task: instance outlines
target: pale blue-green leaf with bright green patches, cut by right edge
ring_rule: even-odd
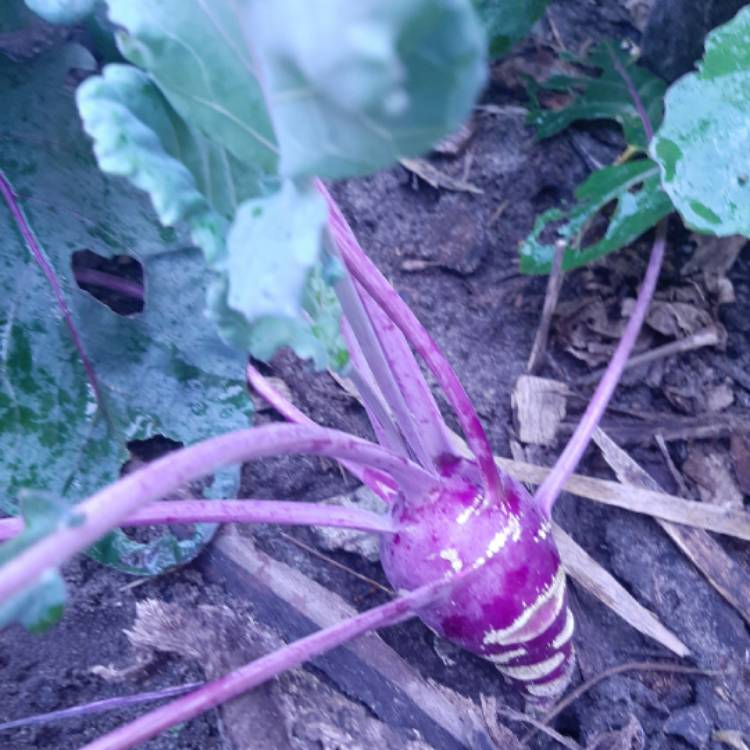
[[[697,73],[666,97],[651,147],[664,189],[699,232],[750,236],[750,8],[706,39]]]

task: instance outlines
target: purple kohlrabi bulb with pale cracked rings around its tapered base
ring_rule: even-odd
[[[483,567],[418,614],[432,630],[494,662],[533,701],[558,696],[574,665],[573,616],[549,518],[504,477],[504,502],[486,502],[476,466],[443,461],[443,486],[415,506],[399,498],[400,527],[381,562],[397,589]]]

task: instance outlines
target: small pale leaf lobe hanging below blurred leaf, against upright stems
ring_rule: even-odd
[[[285,182],[247,201],[229,232],[226,284],[213,310],[224,335],[258,359],[284,345],[318,368],[348,361],[340,310],[323,251],[325,201],[311,187]]]

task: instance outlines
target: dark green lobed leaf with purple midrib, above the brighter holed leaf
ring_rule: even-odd
[[[654,130],[659,127],[663,115],[664,81],[640,67],[627,52],[608,43],[592,47],[586,59],[580,63],[597,68],[599,74],[556,75],[541,85],[530,85],[528,121],[537,129],[537,136],[549,138],[581,120],[615,120],[622,126],[628,145],[645,149],[647,138],[643,122],[617,67],[621,66],[632,81]],[[544,90],[569,91],[573,98],[562,109],[543,109],[539,103],[539,93]]]

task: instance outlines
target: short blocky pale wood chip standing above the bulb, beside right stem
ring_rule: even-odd
[[[511,395],[511,405],[522,443],[554,445],[565,418],[569,389],[564,383],[535,375],[521,375]]]

